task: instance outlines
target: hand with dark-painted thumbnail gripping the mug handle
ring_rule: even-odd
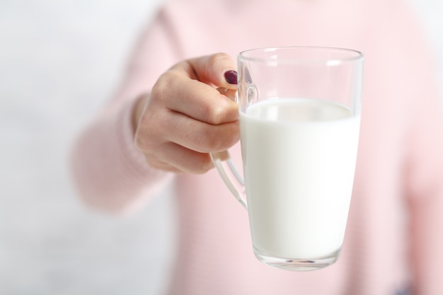
[[[234,62],[223,53],[188,59],[162,74],[151,93],[139,98],[133,116],[135,145],[150,166],[205,173],[213,167],[209,152],[238,141],[238,107],[229,98],[237,88],[233,69]]]

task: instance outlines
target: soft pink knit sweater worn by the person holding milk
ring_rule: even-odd
[[[198,4],[198,5],[196,5]],[[255,259],[246,211],[215,170],[172,175],[134,148],[134,98],[181,59],[280,45],[365,54],[362,129],[338,262],[287,272]],[[400,0],[170,1],[149,24],[117,96],[79,138],[74,175],[91,206],[113,212],[176,188],[178,258],[169,294],[443,294],[443,125],[432,61]],[[234,157],[239,157],[238,145]]]

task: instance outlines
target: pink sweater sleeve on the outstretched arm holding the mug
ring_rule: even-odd
[[[122,213],[140,208],[173,178],[149,167],[134,146],[132,127],[137,97],[149,93],[157,77],[180,59],[165,19],[159,11],[139,38],[117,95],[74,144],[74,183],[81,199],[96,209]]]

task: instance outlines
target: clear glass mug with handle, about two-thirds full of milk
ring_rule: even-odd
[[[332,265],[345,236],[359,138],[363,54],[275,47],[238,54],[244,181],[228,151],[212,153],[248,209],[253,250],[266,265]]]

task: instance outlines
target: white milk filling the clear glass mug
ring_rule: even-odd
[[[240,114],[253,245],[280,258],[339,250],[357,158],[359,116],[323,100],[270,99]]]

